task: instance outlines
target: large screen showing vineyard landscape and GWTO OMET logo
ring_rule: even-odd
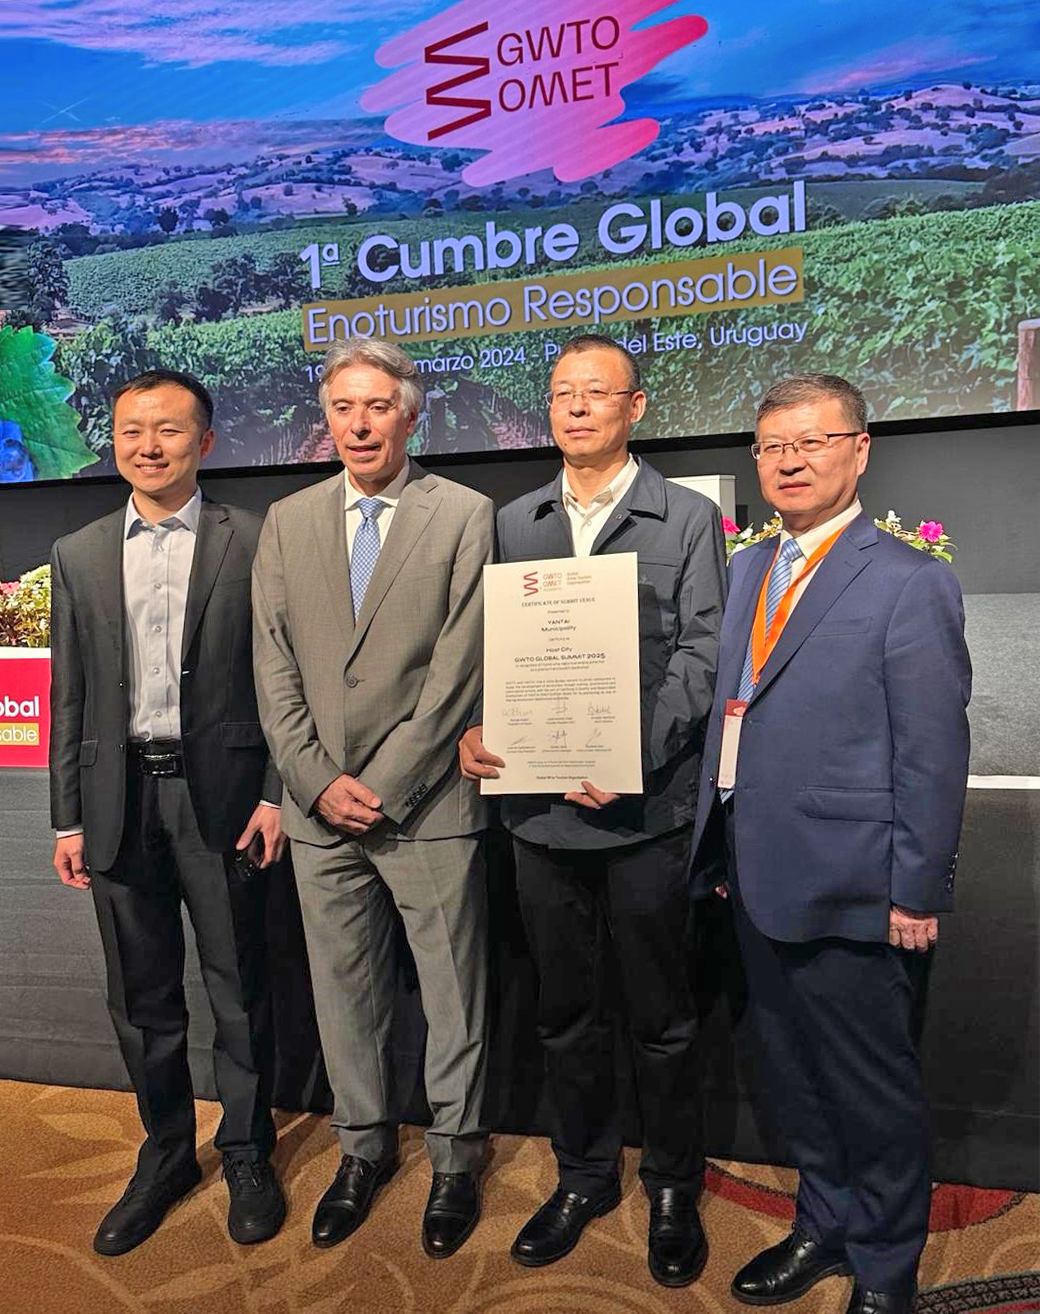
[[[797,0],[0,8],[0,482],[114,473],[187,369],[218,466],[335,456],[337,338],[417,360],[414,455],[551,443],[560,347],[638,355],[640,439],[785,373],[876,420],[1040,405],[1040,20]]]

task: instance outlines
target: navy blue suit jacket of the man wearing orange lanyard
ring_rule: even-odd
[[[694,853],[774,552],[767,540],[731,562]],[[806,585],[743,719],[735,863],[764,934],[886,941],[890,904],[952,907],[970,687],[956,576],[857,516]],[[698,894],[710,879],[696,878]]]

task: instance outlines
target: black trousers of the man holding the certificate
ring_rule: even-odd
[[[605,974],[613,961],[621,972],[643,1121],[640,1176],[650,1190],[698,1192],[703,1147],[689,957],[689,832],[600,850],[514,840],[514,851],[521,915],[539,976],[538,1034],[560,1184],[593,1194],[618,1173],[615,1018],[605,1007]]]

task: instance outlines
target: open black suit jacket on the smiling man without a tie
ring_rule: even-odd
[[[130,720],[122,595],[126,509],[51,552],[51,823],[83,825],[87,861],[112,867],[126,796]],[[250,570],[259,516],[202,501],[180,673],[184,774],[206,845],[229,849],[252,809],[281,800],[252,686]]]

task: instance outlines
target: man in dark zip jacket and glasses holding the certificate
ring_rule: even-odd
[[[721,516],[707,498],[628,453],[647,398],[636,361],[618,343],[572,339],[548,401],[563,470],[498,514],[500,560],[638,553],[644,790],[622,799],[586,781],[559,799],[502,800],[539,974],[538,1031],[560,1172],[513,1256],[526,1265],[560,1259],[621,1198],[614,1028],[603,1000],[609,936],[643,1117],[650,1271],[681,1286],[707,1256],[697,1214],[703,1151],[688,867],[724,598]],[[504,763],[494,748],[471,728],[460,744],[463,774],[497,775]]]

